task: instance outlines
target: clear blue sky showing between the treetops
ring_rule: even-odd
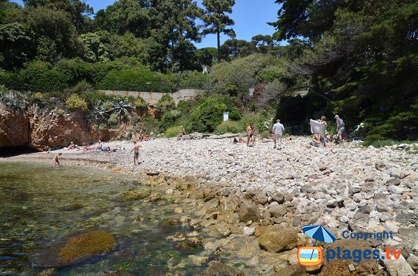
[[[11,1],[23,6],[22,0]],[[95,13],[114,2],[115,0],[86,0]],[[197,2],[201,5],[202,0],[197,0]],[[277,20],[278,10],[279,5],[274,3],[274,0],[235,0],[233,13],[230,16],[235,21],[233,29],[237,35],[236,38],[250,41],[254,35],[272,35],[274,28],[267,22]],[[226,35],[222,35],[221,44],[227,39]],[[196,43],[196,47],[217,47],[216,35],[206,35],[201,43]]]

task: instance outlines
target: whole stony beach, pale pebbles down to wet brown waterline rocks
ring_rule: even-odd
[[[279,151],[272,149],[272,143],[253,148],[233,145],[230,139],[153,140],[141,143],[142,163],[134,167],[132,143],[118,141],[109,146],[123,147],[119,152],[62,151],[62,163],[125,172],[151,189],[158,186],[166,195],[193,200],[199,220],[181,216],[183,210],[177,213],[184,225],[212,237],[202,241],[201,257],[240,258],[245,275],[415,275],[417,154],[391,147],[324,148],[308,143],[309,138],[293,137]],[[51,162],[54,153],[6,161]],[[160,175],[149,177],[146,172]],[[153,196],[160,195],[147,197],[152,200]],[[403,257],[361,263],[336,260],[305,269],[296,254],[298,246],[311,245],[301,232],[303,225],[325,225],[339,238],[345,230],[392,231],[394,238],[389,240],[356,245],[358,241],[341,239],[339,243],[341,247],[402,249]]]

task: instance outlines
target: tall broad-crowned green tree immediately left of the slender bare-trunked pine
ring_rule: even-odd
[[[160,65],[169,64],[173,71],[185,69],[185,60],[179,58],[188,54],[191,48],[190,42],[201,41],[199,26],[196,25],[196,19],[201,16],[201,13],[202,9],[192,0],[152,1],[150,8],[153,22],[151,37],[168,50],[166,61],[163,61],[161,56],[159,57]],[[161,51],[161,47],[155,47],[155,49],[158,50],[155,54],[164,53],[164,49]],[[159,69],[164,71],[166,68]]]

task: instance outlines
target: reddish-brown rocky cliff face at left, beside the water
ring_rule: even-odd
[[[78,113],[60,115],[55,110],[33,108],[26,113],[0,106],[0,147],[32,147],[40,151],[109,140],[120,131],[99,131]]]

